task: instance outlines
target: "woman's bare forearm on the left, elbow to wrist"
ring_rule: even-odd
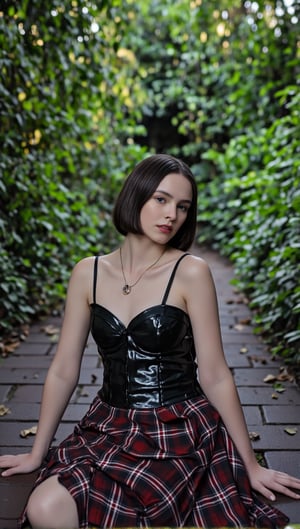
[[[32,455],[42,461],[47,454],[61,417],[77,383],[77,377],[62,379],[55,371],[48,373],[42,397],[37,434]]]

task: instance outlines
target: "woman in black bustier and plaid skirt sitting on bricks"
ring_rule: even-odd
[[[121,247],[75,266],[34,446],[0,458],[6,476],[42,465],[20,525],[27,518],[39,529],[288,522],[253,492],[299,499],[300,480],[261,467],[251,448],[213,280],[207,264],[186,253],[196,208],[190,169],[150,156],[116,202]],[[48,451],[90,329],[103,386],[74,433]]]

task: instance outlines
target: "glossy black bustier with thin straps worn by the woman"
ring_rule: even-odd
[[[176,268],[162,304],[142,311],[127,327],[105,307],[91,304],[91,332],[104,366],[99,393],[111,406],[156,408],[202,393],[189,317],[165,303]]]

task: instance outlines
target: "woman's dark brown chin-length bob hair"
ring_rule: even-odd
[[[113,210],[113,223],[122,235],[143,234],[140,213],[160,182],[170,173],[181,174],[191,184],[192,203],[181,228],[169,241],[169,246],[187,250],[194,241],[197,226],[197,185],[188,165],[168,154],[154,154],[139,162],[126,178]]]

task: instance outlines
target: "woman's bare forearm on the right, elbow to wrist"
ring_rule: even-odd
[[[250,473],[257,461],[250,442],[239,396],[230,371],[219,382],[203,388],[209,401],[220,413],[226,429]]]

